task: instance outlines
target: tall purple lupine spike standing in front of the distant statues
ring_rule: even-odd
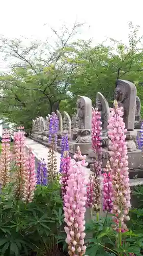
[[[54,139],[54,144],[57,144],[57,133],[59,130],[59,119],[58,116],[52,112],[50,116],[50,123],[49,123],[49,143],[53,142],[52,139]]]

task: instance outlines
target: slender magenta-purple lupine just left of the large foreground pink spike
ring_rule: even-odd
[[[64,196],[66,194],[67,181],[69,177],[69,168],[70,168],[70,157],[69,152],[64,151],[63,158],[61,159],[61,184],[62,184],[62,198],[64,200]]]

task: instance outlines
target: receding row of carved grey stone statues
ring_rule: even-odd
[[[124,122],[128,131],[139,129],[140,127],[140,100],[136,96],[136,87],[133,83],[124,80],[117,81],[115,89],[115,99],[119,106],[123,107]],[[107,125],[109,118],[109,105],[106,98],[100,93],[96,96],[96,108],[101,113],[103,147],[104,141],[107,140]],[[70,118],[69,114],[64,111],[63,115],[57,111],[59,118],[59,138],[65,131],[69,138],[75,143],[91,143],[92,129],[92,101],[88,97],[78,96],[77,113]],[[50,115],[45,119],[37,117],[33,120],[32,137],[48,141]]]

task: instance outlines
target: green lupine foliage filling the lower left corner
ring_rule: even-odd
[[[63,224],[63,203],[60,187],[38,186],[32,203],[15,200],[11,190],[1,194],[1,255],[55,255],[58,233]]]

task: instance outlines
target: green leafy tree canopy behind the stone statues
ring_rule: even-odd
[[[101,92],[111,104],[117,79],[136,84],[143,99],[142,37],[138,27],[129,24],[129,44],[110,39],[109,46],[93,46],[92,40],[76,40],[73,36],[81,24],[71,31],[53,30],[57,40],[33,41],[25,46],[20,39],[0,39],[4,61],[11,63],[9,71],[1,72],[0,114],[9,121],[31,129],[32,119],[60,109],[75,112],[77,95],[90,97],[95,104]],[[142,111],[143,112],[143,111]]]

